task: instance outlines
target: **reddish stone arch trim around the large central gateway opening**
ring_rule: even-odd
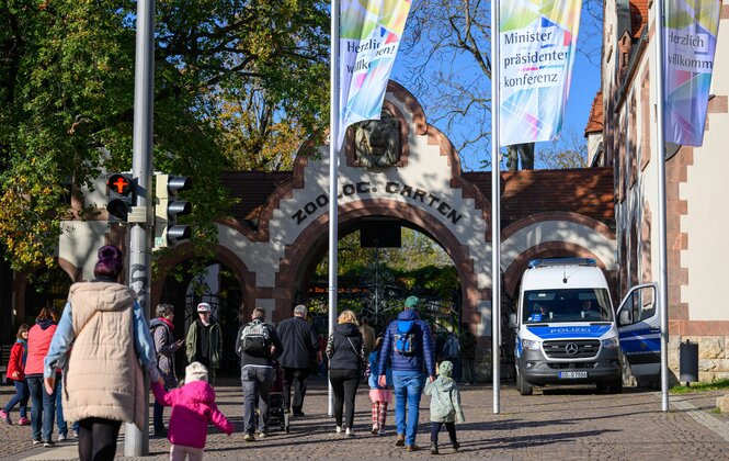
[[[456,236],[434,216],[402,202],[373,199],[348,203],[339,207],[340,227],[352,225],[354,222],[369,216],[389,216],[407,221],[413,228],[436,240],[451,257],[458,273],[464,322],[479,322],[476,308],[478,301],[490,299],[490,290],[478,289],[474,259],[470,257],[467,246],[460,245]],[[298,284],[306,280],[311,259],[321,252],[322,246],[327,245],[328,226],[328,215],[321,215],[299,234],[294,244],[286,247],[276,276],[275,321],[288,315],[286,307],[291,303],[292,293],[295,293]]]

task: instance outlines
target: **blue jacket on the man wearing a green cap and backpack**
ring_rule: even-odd
[[[395,349],[395,335],[398,333],[398,323],[409,322],[415,331],[417,351],[412,356],[403,356]],[[392,361],[392,373],[398,371],[425,372],[429,376],[435,375],[435,362],[433,360],[433,339],[428,324],[420,319],[418,311],[405,310],[398,314],[397,321],[390,322],[383,337],[383,352],[379,355],[377,369],[385,370],[388,358]]]

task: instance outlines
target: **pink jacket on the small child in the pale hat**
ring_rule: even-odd
[[[232,424],[218,409],[215,391],[206,381],[193,381],[170,392],[155,382],[152,392],[158,403],[172,407],[167,432],[171,443],[205,448],[208,421],[227,435],[232,434]]]

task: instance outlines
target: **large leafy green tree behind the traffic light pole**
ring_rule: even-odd
[[[269,156],[274,137],[295,151],[293,139],[320,131],[327,5],[157,2],[155,168],[195,179],[189,196],[205,203],[192,216],[198,237],[216,235],[213,223],[227,214],[230,200],[215,180],[221,170]],[[61,221],[98,212],[71,210],[70,194],[92,188],[103,169],[130,168],[135,18],[130,0],[0,7],[0,247],[14,269],[50,265]],[[260,104],[232,111],[248,100]]]

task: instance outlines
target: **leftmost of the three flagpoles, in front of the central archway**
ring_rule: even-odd
[[[330,47],[330,88],[329,88],[329,335],[337,324],[337,164],[339,146],[339,0],[331,1],[331,47]],[[334,414],[334,390],[328,380],[328,415]]]

